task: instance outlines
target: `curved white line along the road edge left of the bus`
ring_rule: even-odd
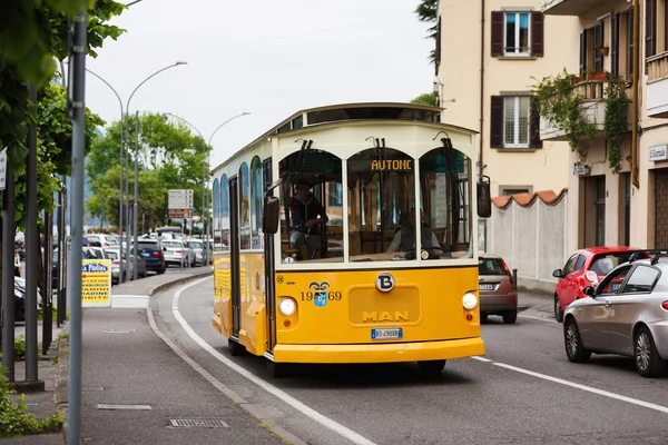
[[[186,332],[186,334],[188,334],[188,336],[195,343],[197,343],[204,350],[209,353],[214,358],[216,358],[223,365],[235,370],[237,374],[246,377],[248,380],[253,382],[254,384],[256,384],[257,386],[259,386],[267,393],[273,394],[274,396],[278,397],[281,400],[283,400],[287,405],[292,406],[299,413],[304,414],[306,417],[311,418],[312,421],[317,422],[318,424],[326,427],[327,429],[331,429],[334,433],[347,438],[355,445],[376,445],[375,443],[371,442],[366,437],[355,433],[354,431],[352,431],[350,428],[346,428],[345,426],[341,425],[336,421],[324,416],[323,414],[316,412],[315,409],[311,408],[310,406],[305,405],[304,403],[297,400],[296,398],[294,398],[289,394],[285,393],[284,390],[278,389],[271,383],[263,380],[262,378],[259,378],[255,374],[250,373],[248,369],[244,368],[243,366],[237,365],[229,358],[225,357],[223,354],[218,353],[212,345],[206,343],[199,335],[197,335],[197,333],[190,327],[188,322],[186,322],[186,319],[181,316],[180,312],[178,310],[178,300],[180,298],[181,291],[184,291],[193,286],[196,286],[207,279],[210,279],[210,278],[212,277],[206,277],[206,278],[199,279],[197,281],[190,283],[186,286],[178,288],[178,290],[174,294],[174,298],[171,300],[171,312],[174,314],[174,317],[178,322],[178,324]]]

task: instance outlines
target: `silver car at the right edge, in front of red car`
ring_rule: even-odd
[[[651,251],[650,251],[651,253]],[[595,273],[583,289],[588,298],[571,303],[563,314],[568,359],[589,360],[591,354],[633,357],[644,377],[666,374],[668,367],[668,259],[631,260],[601,281]],[[666,253],[664,253],[666,254]]]

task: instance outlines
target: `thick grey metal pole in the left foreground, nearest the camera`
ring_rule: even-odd
[[[68,299],[70,301],[70,370],[68,445],[81,443],[81,244],[84,237],[84,158],[86,145],[86,9],[75,20],[75,44],[70,49],[75,57],[72,91],[72,273],[68,275]]]

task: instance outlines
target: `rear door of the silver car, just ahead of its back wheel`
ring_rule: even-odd
[[[651,297],[659,275],[658,268],[639,264],[631,270],[619,294],[610,297],[605,320],[609,352],[633,355],[633,326]]]

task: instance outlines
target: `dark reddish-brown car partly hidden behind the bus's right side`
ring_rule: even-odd
[[[503,323],[512,325],[518,319],[518,289],[510,268],[498,255],[478,257],[480,319],[500,315]]]

